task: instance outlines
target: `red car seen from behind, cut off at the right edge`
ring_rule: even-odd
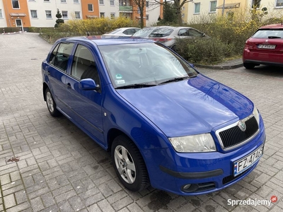
[[[243,49],[243,66],[253,69],[260,64],[283,66],[283,25],[265,25],[250,37]]]

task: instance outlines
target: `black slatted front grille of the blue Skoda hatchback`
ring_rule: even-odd
[[[238,125],[219,132],[224,148],[235,146],[248,140],[258,131],[258,122],[255,117],[246,120],[246,131],[242,131]]]

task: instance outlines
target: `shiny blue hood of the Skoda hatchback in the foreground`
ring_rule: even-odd
[[[201,74],[161,86],[117,89],[117,93],[168,137],[207,133],[253,111],[248,98]]]

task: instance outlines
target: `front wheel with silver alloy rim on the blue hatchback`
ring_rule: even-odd
[[[132,192],[149,186],[149,175],[137,146],[127,136],[117,136],[111,147],[112,163],[120,182]]]

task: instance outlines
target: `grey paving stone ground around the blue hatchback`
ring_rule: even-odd
[[[67,118],[50,116],[40,71],[50,47],[35,33],[0,37],[0,211],[283,211],[282,70],[199,69],[247,95],[262,114],[265,153],[248,177],[201,196],[129,192],[107,152]],[[270,206],[229,205],[272,196]]]

